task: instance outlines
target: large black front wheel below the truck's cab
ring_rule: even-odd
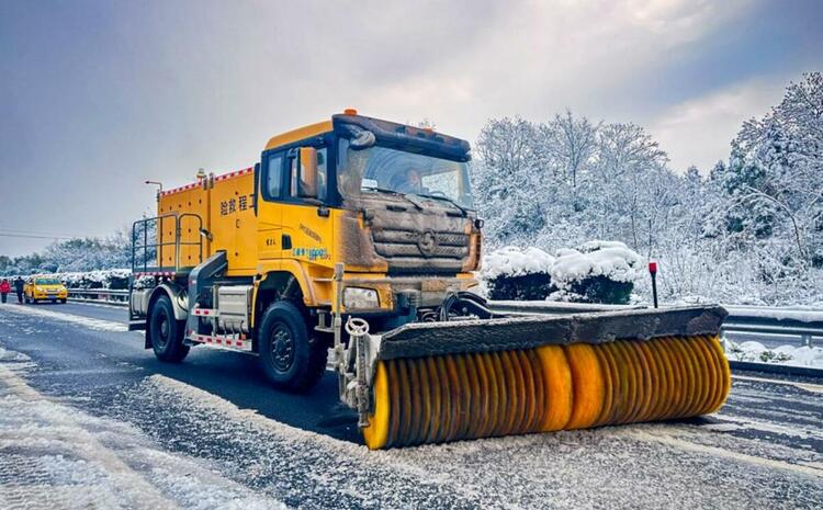
[[[272,303],[259,332],[260,362],[272,385],[307,392],[323,377],[328,350],[320,338],[309,337],[306,319],[292,303]]]

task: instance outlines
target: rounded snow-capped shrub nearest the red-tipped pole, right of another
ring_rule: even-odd
[[[643,274],[643,260],[622,242],[596,240],[557,250],[550,274],[557,287],[552,299],[621,305]]]

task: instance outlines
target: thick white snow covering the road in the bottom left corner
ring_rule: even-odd
[[[0,508],[285,508],[133,426],[44,397],[22,377],[26,360],[0,349]]]

